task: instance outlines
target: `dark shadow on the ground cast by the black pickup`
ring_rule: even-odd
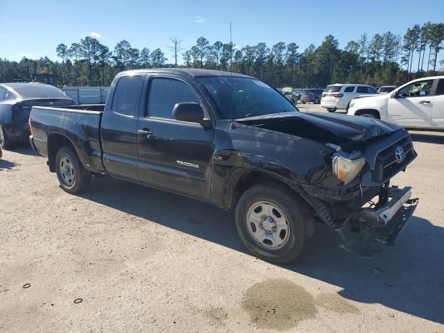
[[[234,213],[209,203],[110,178],[94,178],[82,197],[247,253],[237,236]],[[362,259],[339,248],[338,234],[321,224],[316,227],[300,259],[282,269],[336,285],[343,289],[339,295],[349,300],[444,323],[444,228],[413,216],[396,246]]]

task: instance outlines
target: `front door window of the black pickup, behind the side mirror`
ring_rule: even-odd
[[[153,78],[148,96],[148,116],[173,119],[176,103],[200,104],[198,94],[187,83],[171,78]]]

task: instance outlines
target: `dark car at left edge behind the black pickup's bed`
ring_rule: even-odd
[[[0,84],[0,147],[8,149],[13,142],[27,142],[29,112],[33,105],[75,105],[60,89],[39,83]]]

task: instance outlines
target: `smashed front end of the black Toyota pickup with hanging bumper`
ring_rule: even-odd
[[[411,187],[389,187],[391,178],[405,171],[417,153],[405,130],[361,149],[327,146],[335,151],[330,157],[332,173],[341,185],[324,190],[304,187],[304,194],[316,216],[339,232],[341,248],[370,257],[375,242],[393,245],[418,205]]]

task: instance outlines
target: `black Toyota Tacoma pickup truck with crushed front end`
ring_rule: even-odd
[[[390,187],[416,157],[406,130],[343,114],[299,112],[256,78],[200,69],[140,69],[114,78],[105,105],[33,107],[31,145],[62,189],[109,175],[235,207],[245,246],[296,258],[321,221],[343,248],[393,244],[416,208]]]

